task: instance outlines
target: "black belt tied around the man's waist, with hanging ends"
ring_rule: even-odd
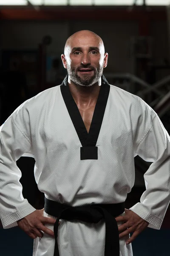
[[[105,256],[119,256],[119,230],[115,217],[125,211],[125,204],[87,204],[72,207],[67,204],[60,204],[45,198],[44,211],[57,217],[54,224],[55,248],[54,256],[59,256],[57,233],[59,219],[67,221],[79,220],[88,223],[98,223],[105,219]]]

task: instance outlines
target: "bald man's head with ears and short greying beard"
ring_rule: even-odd
[[[107,66],[108,54],[100,38],[91,33],[73,36],[62,54],[62,62],[70,79],[82,86],[99,81]]]

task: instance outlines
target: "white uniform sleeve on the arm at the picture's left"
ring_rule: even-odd
[[[0,219],[3,228],[17,226],[18,220],[34,212],[22,195],[21,172],[16,161],[32,154],[31,141],[10,116],[0,127]]]

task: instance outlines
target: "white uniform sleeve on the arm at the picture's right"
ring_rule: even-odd
[[[148,221],[148,227],[160,229],[170,203],[170,136],[157,115],[137,145],[136,154],[153,163],[144,174],[146,190],[140,203],[130,209]]]

